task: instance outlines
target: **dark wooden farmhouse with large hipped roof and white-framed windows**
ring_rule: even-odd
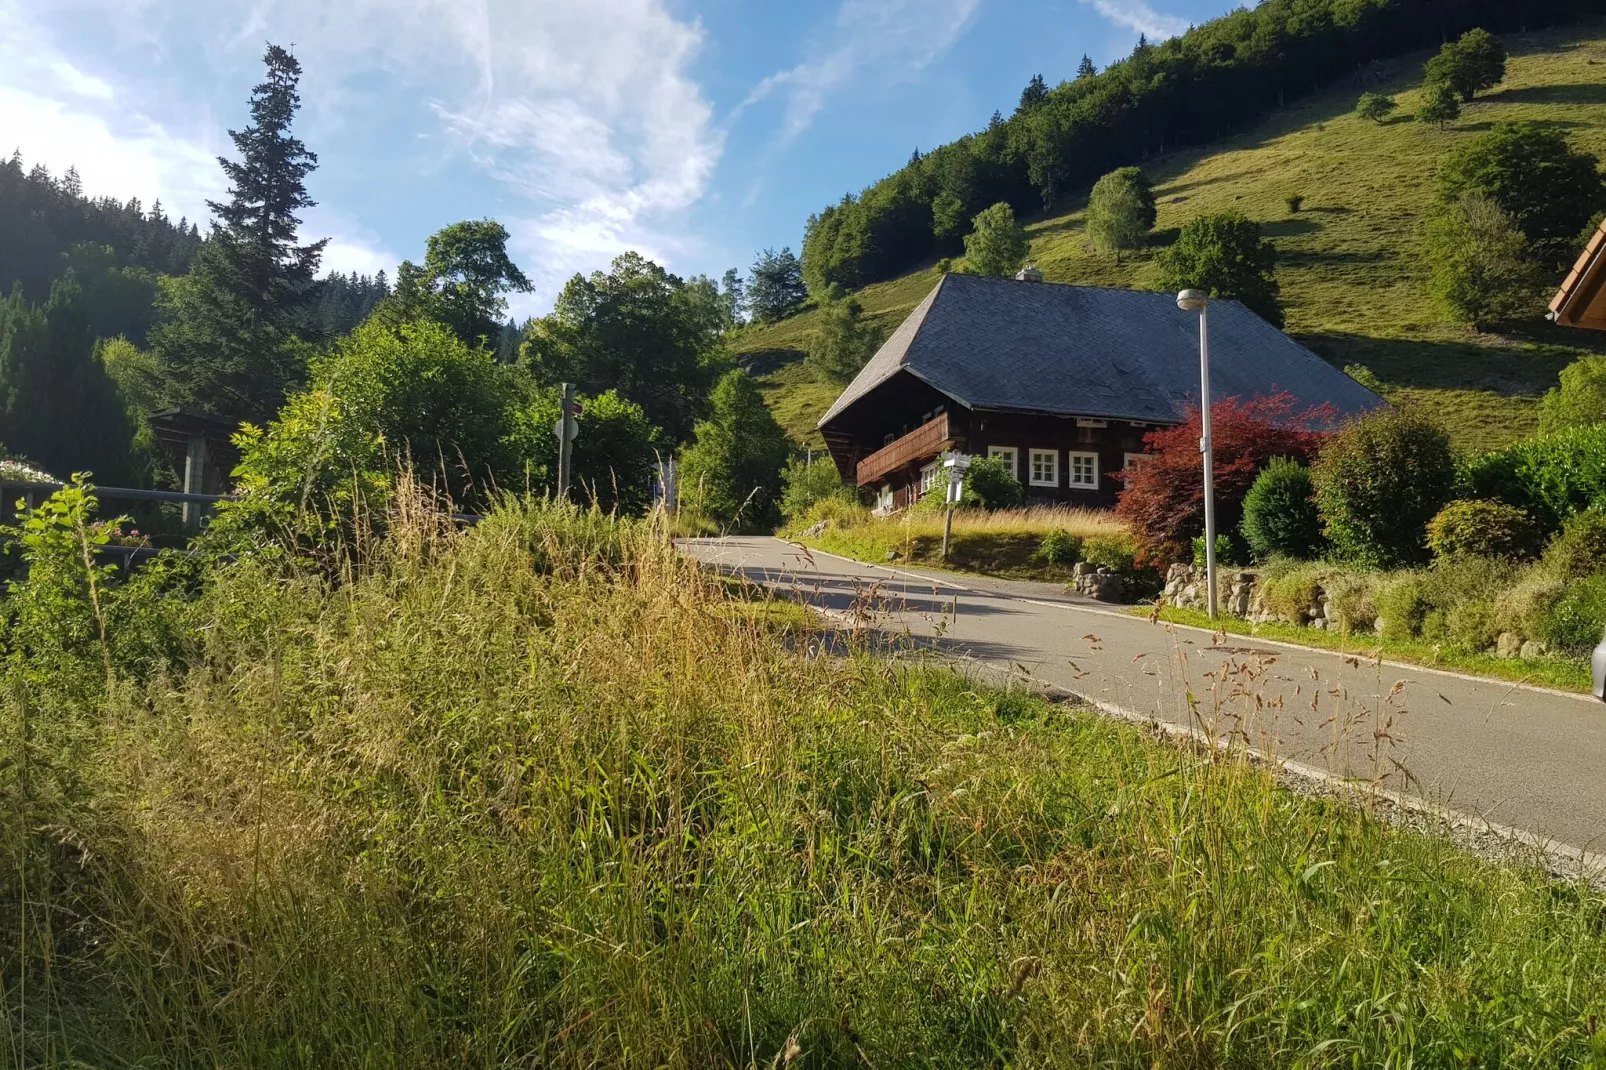
[[[1339,421],[1384,403],[1235,300],[1211,302],[1209,339],[1216,400],[1288,392]],[[949,450],[1002,458],[1031,501],[1110,506],[1198,397],[1198,313],[1172,294],[944,275],[819,429],[882,511],[940,488]]]

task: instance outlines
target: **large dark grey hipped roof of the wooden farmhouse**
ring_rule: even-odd
[[[1384,402],[1237,300],[1209,305],[1211,395],[1286,390],[1339,419]],[[1176,296],[944,275],[821,418],[907,371],[968,408],[1177,423],[1198,402],[1198,313]]]

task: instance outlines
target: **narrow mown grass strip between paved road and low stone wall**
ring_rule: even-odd
[[[1134,612],[1147,615],[1155,611],[1153,606],[1139,606]],[[1590,665],[1582,657],[1495,657],[1494,654],[1461,651],[1441,643],[1384,639],[1376,635],[1346,635],[1343,631],[1301,628],[1278,622],[1254,623],[1229,615],[1211,620],[1203,611],[1176,606],[1161,607],[1160,619],[1171,623],[1193,625],[1195,628],[1209,628],[1211,631],[1225,631],[1227,635],[1246,635],[1261,639],[1277,639],[1278,643],[1293,643],[1294,646],[1310,646],[1319,651],[1354,654],[1365,660],[1384,657],[1429,668],[1449,668],[1474,676],[1556,688],[1558,691],[1588,694],[1593,686]]]

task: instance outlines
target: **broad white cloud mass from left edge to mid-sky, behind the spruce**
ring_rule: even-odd
[[[29,161],[77,162],[92,193],[159,193],[194,214],[220,191],[212,157],[238,122],[207,114],[204,125],[173,129],[175,114],[194,111],[180,95],[198,79],[249,85],[263,40],[292,43],[305,69],[300,125],[323,132],[308,138],[321,177],[342,167],[392,204],[410,180],[432,182],[435,201],[418,204],[429,218],[483,214],[512,194],[496,214],[543,299],[626,247],[689,249],[678,217],[703,196],[723,153],[691,77],[702,26],[675,18],[670,0],[55,0],[27,5],[26,16],[24,3],[0,0],[0,138]],[[74,37],[71,27],[93,19],[124,59],[141,63],[90,76],[108,66],[51,51],[50,19]],[[148,114],[127,103],[162,87],[167,98],[146,101]],[[331,129],[381,148],[353,159],[350,145],[331,145]],[[442,209],[448,175],[463,194]],[[315,210],[307,231],[336,235],[331,270],[393,267],[382,243],[332,210]]]

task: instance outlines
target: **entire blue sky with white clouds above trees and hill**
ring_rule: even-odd
[[[302,63],[324,268],[496,218],[541,315],[636,249],[683,275],[1230,0],[0,0],[0,153],[207,218],[268,42]],[[3,239],[3,236],[0,236]]]

